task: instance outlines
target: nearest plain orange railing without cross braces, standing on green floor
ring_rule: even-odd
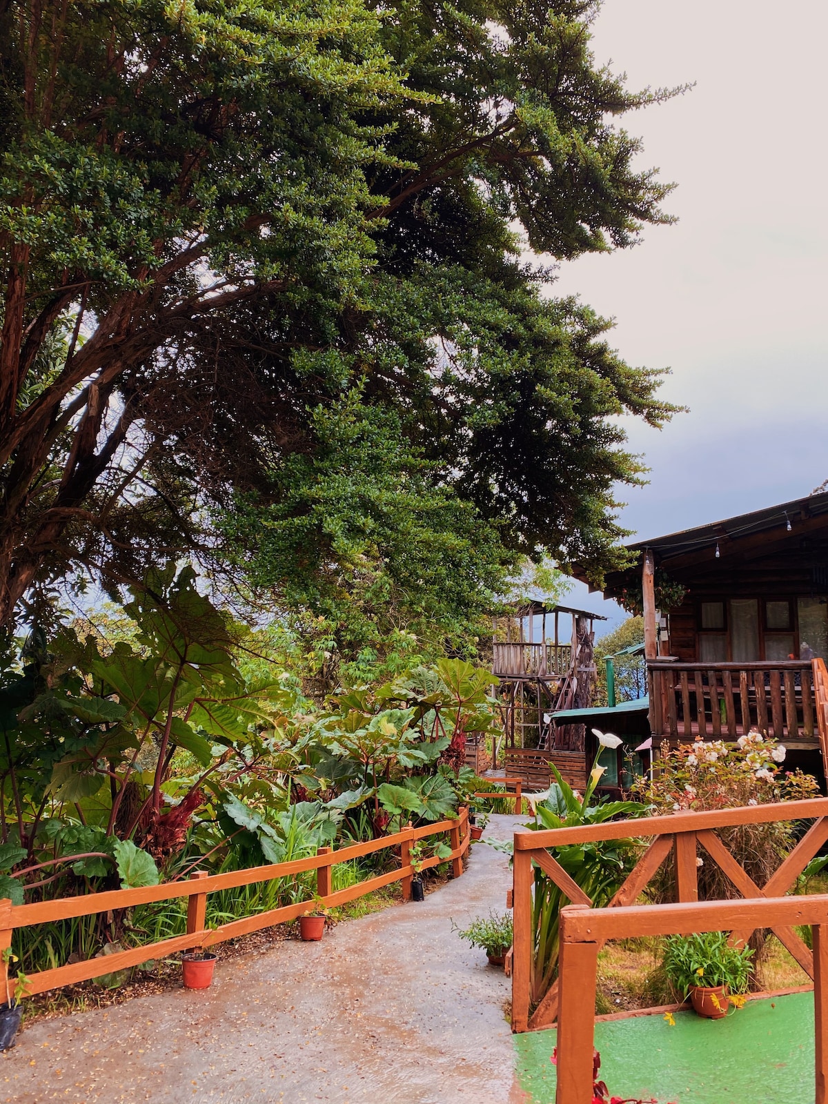
[[[524,852],[529,853],[529,852]],[[810,924],[814,943],[816,1104],[828,1104],[828,895],[682,902],[561,912],[561,1010],[555,1104],[591,1104],[595,979],[607,940],[639,935],[753,930]]]

